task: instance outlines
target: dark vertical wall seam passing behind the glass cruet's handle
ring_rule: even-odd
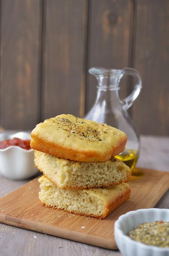
[[[136,49],[136,6],[137,0],[130,0],[131,1],[131,15],[130,15],[130,36],[129,36],[129,62],[128,65],[131,68],[134,68],[135,65],[135,49]],[[132,77],[129,76],[127,79],[127,94],[129,95],[132,92]],[[129,109],[129,115],[133,116],[132,108]]]

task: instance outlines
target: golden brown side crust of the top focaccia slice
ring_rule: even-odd
[[[121,142],[119,142],[118,147],[115,149],[112,148],[112,151],[106,152],[104,155],[99,155],[98,152],[89,152],[89,151],[83,151],[83,149],[80,149],[78,151],[75,151],[73,149],[64,148],[63,146],[56,145],[51,142],[43,141],[41,138],[35,135],[31,135],[32,140],[30,142],[30,147],[32,149],[35,149],[37,151],[41,151],[43,153],[47,153],[49,155],[57,156],[59,158],[65,158],[70,160],[75,160],[79,162],[104,162],[106,160],[111,159],[111,157],[114,157],[121,153],[126,146],[127,137],[121,139]]]

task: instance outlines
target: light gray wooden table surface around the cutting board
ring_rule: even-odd
[[[169,171],[169,137],[141,136],[141,153],[137,166]],[[0,176],[0,197],[29,180],[13,181]],[[169,191],[155,207],[169,208]],[[2,256],[119,256],[108,250],[10,225],[0,224],[0,255]]]

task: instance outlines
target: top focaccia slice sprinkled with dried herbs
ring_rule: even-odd
[[[59,158],[80,162],[102,162],[125,149],[127,136],[107,124],[58,115],[37,124],[30,146]]]

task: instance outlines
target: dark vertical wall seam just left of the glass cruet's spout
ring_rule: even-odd
[[[85,63],[85,73],[86,73],[86,83],[85,83],[85,101],[84,101],[84,114],[86,114],[87,110],[87,94],[88,94],[88,86],[89,84],[89,76],[88,69],[90,63],[90,30],[91,30],[91,4],[92,0],[88,0],[88,19],[87,19],[87,38],[86,38],[86,63]]]

